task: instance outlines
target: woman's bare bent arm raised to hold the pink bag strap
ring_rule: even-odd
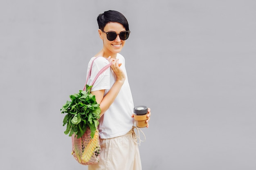
[[[105,96],[104,96],[105,90],[91,92],[92,95],[95,95],[96,102],[100,104],[99,106],[101,108],[100,117],[106,112],[106,110],[108,110],[110,105],[114,102],[115,98],[117,97],[126,79],[124,72],[120,68],[121,63],[118,64],[118,59],[110,59],[110,62],[112,62],[111,68],[115,73],[115,75],[117,76],[116,82],[113,84],[113,86],[110,88],[110,91]]]

